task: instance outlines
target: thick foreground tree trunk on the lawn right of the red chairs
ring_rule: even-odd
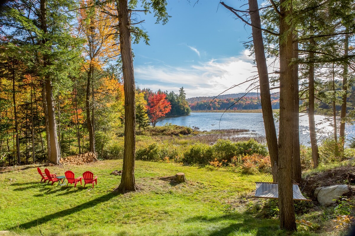
[[[127,0],[116,0],[120,29],[120,48],[125,93],[125,144],[121,183],[118,190],[136,191],[134,169],[136,152],[135,81],[130,32],[130,13]]]

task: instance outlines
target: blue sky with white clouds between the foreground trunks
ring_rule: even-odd
[[[242,42],[250,41],[251,28],[235,19],[219,0],[170,0],[171,16],[155,24],[153,14],[137,15],[148,32],[150,45],[133,44],[136,84],[153,91],[178,92],[186,97],[214,96],[255,74],[253,58]],[[239,7],[245,2],[226,0]],[[227,93],[244,92],[239,86]]]

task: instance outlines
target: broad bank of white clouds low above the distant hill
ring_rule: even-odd
[[[187,67],[168,65],[141,65],[135,67],[138,86],[148,87],[153,91],[178,92],[184,86],[186,97],[215,96],[233,85],[245,82],[257,74],[253,58],[244,52],[240,57],[211,59],[207,62],[192,64]],[[237,86],[227,92],[245,92],[250,82]]]

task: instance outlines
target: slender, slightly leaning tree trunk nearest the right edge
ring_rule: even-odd
[[[348,29],[346,29],[348,30]],[[349,55],[349,34],[345,35],[344,56]],[[346,99],[348,98],[348,64],[344,62],[343,70],[343,103],[340,112],[340,127],[339,127],[339,140],[342,142],[342,150],[344,150],[345,141],[345,116],[346,116]]]

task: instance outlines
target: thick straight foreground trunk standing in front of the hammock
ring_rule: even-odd
[[[293,66],[292,1],[280,0],[280,122],[279,122],[279,209],[280,228],[296,230],[292,189],[292,154],[294,144],[295,81]]]

